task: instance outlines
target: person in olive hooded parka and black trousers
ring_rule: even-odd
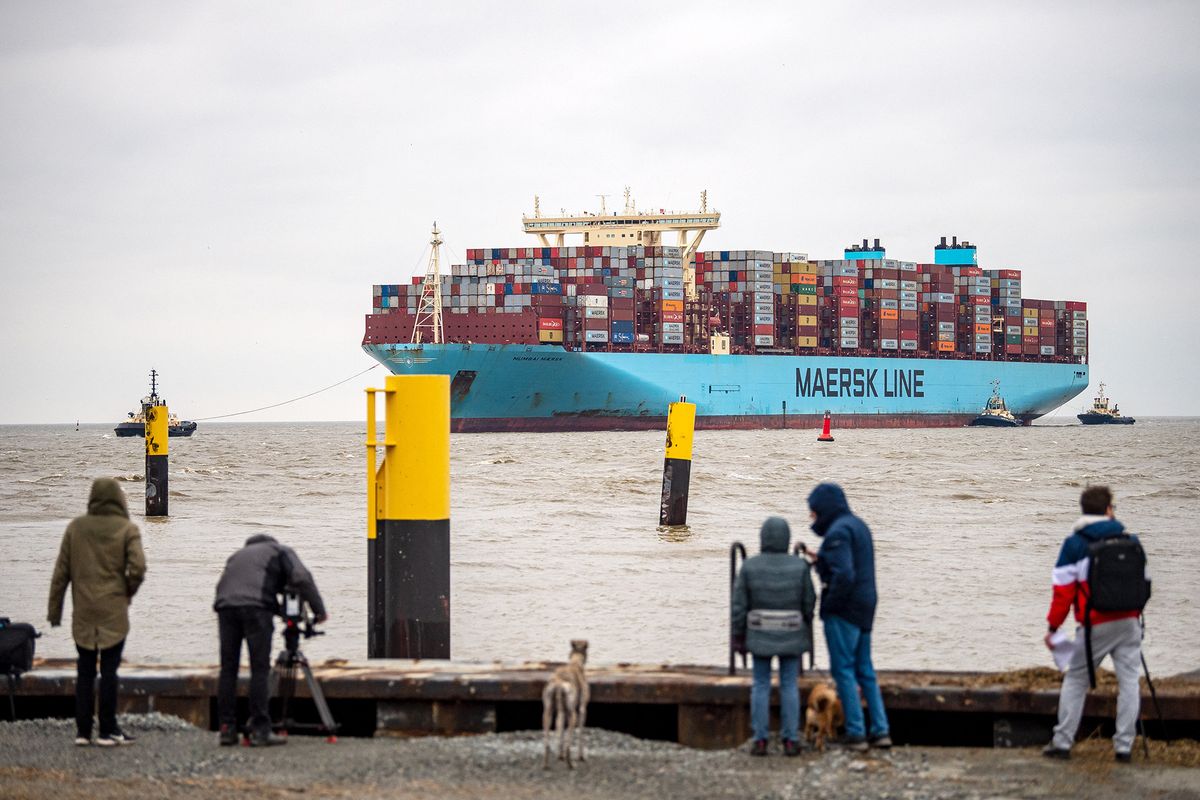
[[[116,724],[116,668],[130,632],[130,600],[146,572],[142,534],[130,522],[125,492],[110,477],[91,485],[88,513],[76,517],[62,534],[59,560],[50,579],[48,619],[62,624],[62,597],[71,587],[71,634],[79,661],[76,667],[76,744],[91,742],[96,660],[100,658],[98,745],[131,744]]]

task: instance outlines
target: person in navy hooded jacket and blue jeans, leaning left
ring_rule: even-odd
[[[814,564],[823,585],[821,619],[829,645],[829,672],[846,715],[847,747],[864,751],[892,746],[883,696],[871,664],[871,624],[875,621],[875,546],[871,530],[850,512],[836,483],[821,483],[809,495],[812,530],[822,537]],[[871,715],[870,739],[858,690]]]

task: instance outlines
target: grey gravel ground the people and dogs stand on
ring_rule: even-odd
[[[1036,750],[898,747],[799,758],[697,751],[589,729],[588,760],[541,769],[536,732],[452,739],[293,738],[218,747],[216,734],[158,714],[121,718],[128,747],[76,747],[66,720],[0,723],[0,798],[1200,798],[1200,770],[1135,762],[1102,747],[1069,763]]]

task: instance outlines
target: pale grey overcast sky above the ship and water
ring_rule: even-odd
[[[626,184],[707,188],[706,249],[967,237],[1088,302],[1124,411],[1200,414],[1198,32],[1194,2],[4,1],[0,423],[115,422],[151,367],[190,419],[332,384],[433,219],[461,259]],[[239,419],[362,419],[382,381]]]

